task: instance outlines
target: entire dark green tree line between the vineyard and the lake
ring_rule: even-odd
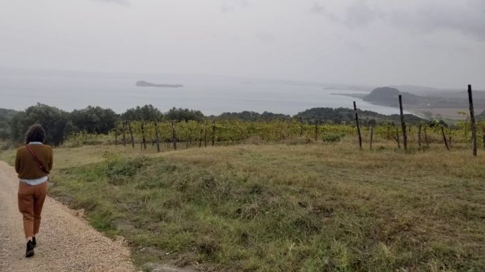
[[[398,123],[398,115],[382,115],[372,111],[359,111],[364,125],[393,124]],[[405,116],[408,123],[425,123],[415,115]],[[342,124],[352,125],[354,111],[349,108],[312,108],[297,115],[284,115],[276,113],[256,113],[243,111],[241,113],[222,113],[221,115],[206,116],[201,111],[187,108],[171,108],[162,112],[152,105],[136,106],[129,108],[124,113],[115,113],[110,108],[88,106],[81,110],[71,112],[62,111],[59,108],[38,103],[26,108],[25,111],[13,111],[0,109],[0,139],[22,142],[25,132],[30,125],[40,123],[46,130],[46,142],[50,145],[60,145],[68,135],[76,132],[94,134],[107,134],[117,123],[123,121],[151,120],[151,121],[189,121],[195,120],[243,120],[269,122],[273,120],[298,120],[306,124]]]

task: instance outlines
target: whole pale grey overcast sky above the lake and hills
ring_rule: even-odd
[[[0,65],[485,89],[484,0],[0,0]]]

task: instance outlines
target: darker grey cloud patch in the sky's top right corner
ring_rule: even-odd
[[[485,1],[420,1],[408,8],[384,10],[368,1],[355,1],[344,9],[344,13],[333,13],[315,2],[310,13],[320,14],[349,28],[369,26],[376,21],[392,24],[398,28],[418,33],[436,30],[452,30],[485,40]]]

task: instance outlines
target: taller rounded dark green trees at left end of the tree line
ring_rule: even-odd
[[[88,106],[81,110],[62,111],[59,108],[38,103],[25,111],[0,109],[0,139],[23,142],[26,130],[33,124],[41,124],[46,131],[46,142],[60,145],[71,133],[87,132],[107,134],[123,120],[202,120],[200,111],[171,108],[161,113],[152,105],[129,108],[117,114],[110,108]]]

